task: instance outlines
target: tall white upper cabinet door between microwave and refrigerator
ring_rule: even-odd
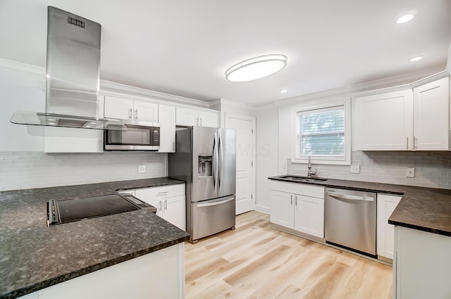
[[[175,107],[160,105],[160,153],[175,153]]]

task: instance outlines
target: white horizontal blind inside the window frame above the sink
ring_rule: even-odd
[[[345,106],[297,112],[297,158],[345,158]]]

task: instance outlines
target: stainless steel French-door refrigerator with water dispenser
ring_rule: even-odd
[[[186,182],[186,227],[192,243],[235,229],[235,130],[188,127],[175,132],[168,175]]]

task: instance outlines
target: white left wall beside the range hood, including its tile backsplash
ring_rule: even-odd
[[[0,65],[0,191],[166,177],[165,153],[43,153],[44,136],[9,121],[17,110],[45,111],[42,68],[18,65]],[[138,174],[137,165],[147,165],[147,172]]]

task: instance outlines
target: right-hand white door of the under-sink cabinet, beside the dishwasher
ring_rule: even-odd
[[[295,230],[324,238],[324,200],[295,194]]]

